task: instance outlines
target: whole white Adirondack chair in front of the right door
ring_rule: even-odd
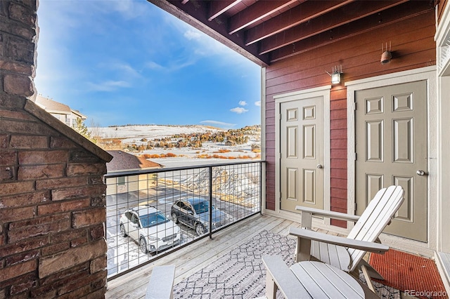
[[[390,224],[404,201],[404,190],[390,186],[379,190],[361,216],[297,206],[302,211],[302,228],[290,227],[289,234],[297,237],[295,260],[321,260],[340,270],[359,277],[359,269],[371,286],[371,277],[383,279],[363,258],[367,251],[385,253],[388,246],[379,244],[378,236]],[[311,229],[312,215],[356,221],[347,238],[314,232]],[[378,243],[377,243],[378,241]]]

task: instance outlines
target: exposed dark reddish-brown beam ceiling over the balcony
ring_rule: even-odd
[[[408,0],[148,0],[259,65],[433,9]]]

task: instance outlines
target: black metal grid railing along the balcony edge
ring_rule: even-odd
[[[262,163],[106,174],[108,279],[260,213]]]

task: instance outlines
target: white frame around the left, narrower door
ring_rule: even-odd
[[[321,86],[317,88],[305,89],[302,91],[294,91],[290,93],[283,93],[280,95],[274,95],[275,100],[275,212],[285,214],[287,218],[292,215],[293,212],[283,211],[280,208],[281,204],[281,187],[280,187],[280,150],[281,150],[281,135],[280,135],[280,116],[281,116],[281,103],[290,102],[293,100],[306,100],[307,98],[321,97],[323,107],[323,208],[327,211],[330,210],[330,91],[331,86]],[[300,215],[300,214],[299,214]],[[326,220],[326,224],[329,224],[329,220]]]

